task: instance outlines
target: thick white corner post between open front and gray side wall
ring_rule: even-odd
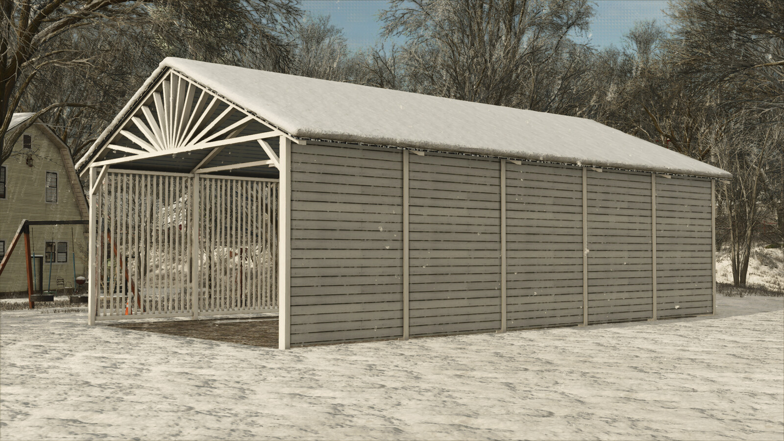
[[[291,200],[292,143],[280,137],[278,197],[278,348],[291,348]]]

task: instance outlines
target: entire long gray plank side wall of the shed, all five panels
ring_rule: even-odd
[[[403,335],[403,155],[292,146],[291,342]],[[501,329],[499,159],[408,155],[409,335]],[[583,169],[506,163],[506,328],[583,323]],[[653,316],[650,173],[587,171],[588,322]],[[660,318],[710,313],[710,180],[656,180]]]

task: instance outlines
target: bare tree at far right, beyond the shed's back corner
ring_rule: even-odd
[[[731,220],[735,283],[744,283],[747,249],[757,239],[755,223],[776,218],[775,230],[784,242],[784,2],[672,0],[670,16],[674,38],[667,44],[666,61],[688,82],[692,97],[707,97],[712,105],[706,108],[717,109],[715,125],[726,132],[722,143],[731,139],[729,145],[735,146],[729,150],[733,155],[725,147],[711,156],[735,173],[722,191],[722,208]],[[760,127],[750,132],[750,126]],[[762,147],[747,150],[757,145]]]

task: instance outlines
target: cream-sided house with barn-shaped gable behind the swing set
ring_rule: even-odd
[[[32,115],[14,114],[9,129]],[[71,152],[48,126],[34,122],[14,145],[11,157],[0,166],[0,259],[24,219],[71,221],[87,217],[87,200]],[[74,267],[76,275],[87,274],[85,231],[83,225],[31,227],[35,289],[55,290],[58,277],[72,286]],[[0,275],[0,296],[14,293],[27,294],[24,241],[17,244]]]

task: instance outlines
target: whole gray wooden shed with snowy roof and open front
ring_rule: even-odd
[[[583,118],[167,58],[77,165],[96,319],[280,348],[712,314],[721,169]]]

